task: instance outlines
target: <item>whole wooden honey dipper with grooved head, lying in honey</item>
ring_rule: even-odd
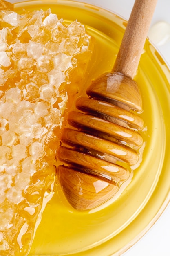
[[[157,0],[136,0],[111,73],[97,78],[68,113],[61,133],[58,179],[68,202],[93,209],[130,182],[130,166],[143,143],[143,119],[135,76]],[[80,111],[79,111],[80,110]],[[126,164],[124,164],[126,163]],[[126,168],[126,166],[128,166]]]

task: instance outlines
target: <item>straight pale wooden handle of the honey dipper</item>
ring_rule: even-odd
[[[113,67],[132,79],[135,76],[157,0],[136,0]]]

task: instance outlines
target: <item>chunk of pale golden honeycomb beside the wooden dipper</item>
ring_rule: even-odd
[[[0,3],[0,255],[26,256],[54,193],[64,88],[91,38],[50,9],[19,15]]]

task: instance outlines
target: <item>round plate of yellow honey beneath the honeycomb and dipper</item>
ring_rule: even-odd
[[[95,38],[86,84],[110,71],[116,58],[126,21],[90,4],[67,0],[37,0],[16,3],[22,8],[51,8],[66,22],[82,22]],[[37,229],[30,256],[120,255],[132,246],[159,218],[170,199],[170,71],[147,40],[135,77],[143,98],[145,148],[141,164],[130,185],[115,200],[95,211],[78,212],[66,202],[56,185]],[[85,78],[84,78],[85,81]],[[84,82],[85,83],[85,82]]]

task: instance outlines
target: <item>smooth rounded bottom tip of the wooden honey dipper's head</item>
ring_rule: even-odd
[[[64,175],[63,175],[64,173]],[[98,177],[89,177],[66,166],[58,169],[58,178],[68,202],[77,210],[93,209],[112,198],[118,186]]]

